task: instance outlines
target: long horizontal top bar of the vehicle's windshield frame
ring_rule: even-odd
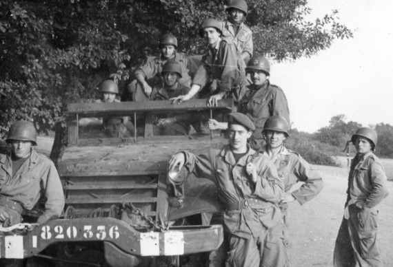
[[[68,105],[66,114],[80,114],[83,116],[120,116],[132,112],[185,112],[192,110],[227,110],[232,111],[234,107],[233,99],[227,98],[219,100],[216,107],[208,107],[206,99],[188,100],[177,105],[173,105],[169,100],[134,102],[126,101],[121,103],[72,103]]]

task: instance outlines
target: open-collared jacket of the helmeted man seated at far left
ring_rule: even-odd
[[[64,208],[63,187],[50,159],[32,150],[30,158],[12,175],[10,156],[0,154],[0,197],[19,202],[24,209],[31,210],[41,194],[46,202],[37,222],[43,223],[51,217],[59,217]]]

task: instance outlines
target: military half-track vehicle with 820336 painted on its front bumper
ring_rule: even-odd
[[[182,255],[219,247],[223,226],[201,225],[200,215],[221,206],[208,180],[171,184],[168,160],[177,151],[202,153],[226,140],[212,132],[154,136],[154,118],[165,113],[216,118],[232,105],[230,99],[218,107],[208,107],[206,100],[68,105],[67,145],[59,146],[57,136],[52,151],[66,197],[63,218],[0,237],[0,257],[41,255],[59,266],[195,266],[186,264],[192,256]],[[108,136],[103,120],[113,116],[127,117],[134,133]],[[82,118],[90,126],[82,127]]]

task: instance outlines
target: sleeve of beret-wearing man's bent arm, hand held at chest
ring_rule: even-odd
[[[253,195],[268,202],[278,203],[283,197],[284,185],[279,178],[279,173],[270,159],[258,163],[259,178],[256,180]]]

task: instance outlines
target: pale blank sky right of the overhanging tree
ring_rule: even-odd
[[[272,63],[270,81],[288,98],[292,128],[312,133],[339,114],[363,126],[393,125],[393,1],[309,0],[308,6],[309,19],[338,10],[354,37],[311,58]]]

